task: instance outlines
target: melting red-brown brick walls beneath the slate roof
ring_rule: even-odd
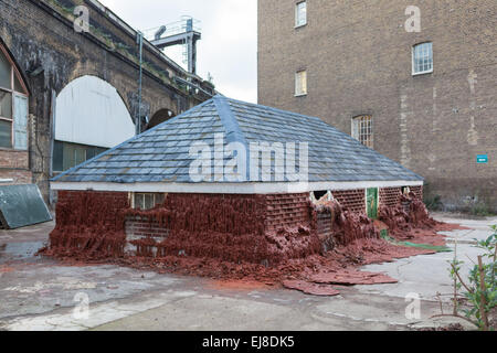
[[[380,189],[380,203],[393,206],[395,193],[400,189]],[[366,213],[363,189],[332,194],[345,210]],[[257,263],[335,246],[332,215],[328,208],[314,207],[309,193],[168,194],[162,207],[149,211],[131,210],[129,196],[127,192],[60,191],[51,248],[73,255],[188,254]]]

